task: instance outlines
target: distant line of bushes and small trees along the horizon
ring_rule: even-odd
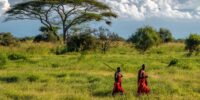
[[[58,34],[59,28],[54,28],[54,32]],[[51,31],[47,28],[41,27],[41,33],[33,37],[16,38],[11,33],[0,33],[0,44],[3,46],[14,45],[16,42],[33,41],[39,42],[52,42],[61,43],[62,40],[58,40]],[[189,51],[189,55],[193,52],[197,54],[200,51],[200,35],[190,34],[187,39],[174,39],[170,30],[166,28],[160,28],[156,30],[151,26],[144,26],[138,28],[128,39],[124,39],[117,33],[111,32],[104,27],[91,28],[88,26],[77,26],[70,29],[70,35],[67,37],[67,42],[64,44],[64,51],[86,51],[96,49],[100,47],[103,53],[109,49],[110,44],[114,41],[124,41],[132,43],[133,46],[141,52],[147,51],[153,46],[157,46],[168,42],[182,42],[185,43],[185,49]],[[59,37],[62,37],[61,35]]]

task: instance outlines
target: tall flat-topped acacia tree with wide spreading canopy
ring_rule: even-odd
[[[6,13],[7,20],[40,20],[50,30],[61,26],[65,43],[72,26],[102,20],[110,24],[111,18],[117,17],[108,5],[97,0],[31,0],[14,5]]]

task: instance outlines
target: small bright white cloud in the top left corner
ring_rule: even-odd
[[[10,8],[8,0],[0,0],[0,16]]]

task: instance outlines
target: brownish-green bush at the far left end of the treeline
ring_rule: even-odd
[[[11,33],[0,33],[0,44],[3,46],[10,46],[15,44],[16,40]]]

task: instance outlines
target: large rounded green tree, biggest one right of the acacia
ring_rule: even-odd
[[[137,49],[145,52],[152,46],[158,45],[160,43],[160,37],[153,27],[145,26],[139,28],[136,33],[129,38],[129,41],[134,43]]]

